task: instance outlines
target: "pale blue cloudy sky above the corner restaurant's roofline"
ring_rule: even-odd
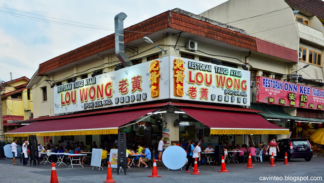
[[[198,4],[192,0],[126,0],[123,4],[104,0],[1,1],[0,80],[9,81],[10,72],[13,73],[13,79],[22,76],[31,78],[39,64],[113,33],[114,16],[120,12],[128,15],[125,20],[125,27],[128,27],[174,8],[199,14],[226,1],[201,0]],[[35,18],[38,18],[38,21],[34,20]],[[57,22],[44,22],[48,20]],[[108,30],[58,24],[62,22],[76,24],[63,20],[84,23],[78,24],[83,26],[88,26],[85,24],[103,26]]]

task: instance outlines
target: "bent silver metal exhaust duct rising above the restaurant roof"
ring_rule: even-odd
[[[125,42],[124,42],[124,20],[127,15],[123,12],[118,13],[115,16],[115,52],[116,56],[121,62],[121,65],[128,67],[132,66],[133,63],[127,57],[125,53]]]

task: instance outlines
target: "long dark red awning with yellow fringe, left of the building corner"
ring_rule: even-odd
[[[87,134],[116,134],[118,127],[138,119],[156,109],[143,109],[103,115],[36,121],[6,132],[6,136],[60,136]]]

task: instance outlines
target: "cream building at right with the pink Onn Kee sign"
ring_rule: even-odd
[[[290,64],[287,72],[250,68],[257,82],[251,108],[290,128],[292,138],[310,140],[324,122],[323,9],[320,0],[229,0],[199,14],[298,51],[298,61]],[[272,87],[271,83],[280,85]]]

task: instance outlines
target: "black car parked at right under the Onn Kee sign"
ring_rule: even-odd
[[[310,161],[313,157],[311,145],[307,139],[280,139],[277,141],[280,152],[278,159],[284,159],[287,152],[288,161],[291,158],[304,158]]]

